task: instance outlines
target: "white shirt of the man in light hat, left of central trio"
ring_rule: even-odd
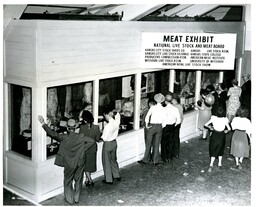
[[[147,124],[162,124],[162,126],[165,127],[165,125],[163,125],[163,123],[165,122],[165,118],[166,112],[164,107],[161,105],[161,103],[157,103],[156,105],[151,106],[150,109],[148,110],[148,113],[145,117],[145,122]]]

